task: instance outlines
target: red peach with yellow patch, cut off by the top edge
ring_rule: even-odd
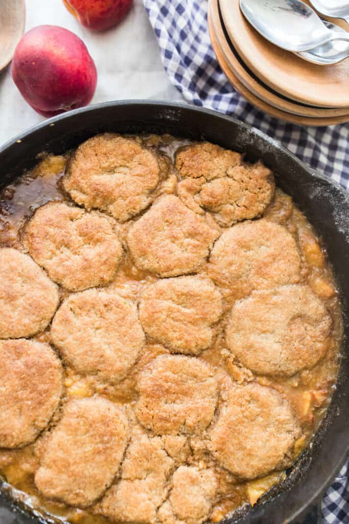
[[[96,31],[118,24],[130,10],[133,0],[63,0],[80,23]]]

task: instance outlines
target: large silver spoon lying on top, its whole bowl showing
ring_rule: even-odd
[[[328,29],[300,0],[240,0],[240,8],[264,38],[287,51],[308,51],[331,40],[349,42],[349,33]]]

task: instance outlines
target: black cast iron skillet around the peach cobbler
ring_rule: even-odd
[[[71,111],[10,140],[0,148],[1,185],[12,182],[24,169],[35,165],[36,155],[41,151],[61,154],[105,131],[171,133],[246,151],[247,158],[260,158],[275,171],[279,187],[292,196],[321,235],[343,304],[343,358],[337,389],[311,449],[303,452],[287,481],[266,495],[264,504],[245,511],[239,519],[224,521],[225,524],[318,522],[316,508],[321,495],[349,454],[349,195],[258,129],[212,111],[183,104],[143,101],[110,102]],[[0,494],[0,521],[2,524],[42,522],[22,511],[3,494]]]

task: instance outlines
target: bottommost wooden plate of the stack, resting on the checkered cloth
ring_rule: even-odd
[[[212,0],[210,0],[211,2]],[[224,55],[219,47],[217,36],[215,30],[213,29],[212,18],[210,14],[210,4],[209,4],[209,13],[208,13],[208,26],[210,32],[211,43],[213,51],[215,51],[218,63],[222,68],[223,72],[226,74],[228,80],[233,85],[233,87],[245,97],[245,99],[254,105],[257,109],[267,113],[273,117],[280,118],[286,122],[291,122],[292,124],[306,125],[306,126],[328,126],[333,124],[341,124],[343,122],[349,121],[349,114],[346,116],[337,116],[329,118],[311,118],[306,116],[298,116],[291,113],[286,113],[285,111],[280,111],[277,108],[267,104],[263,100],[255,96],[251,91],[249,91],[235,76],[235,74],[229,68]]]

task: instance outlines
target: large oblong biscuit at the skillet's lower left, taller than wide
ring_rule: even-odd
[[[123,409],[92,397],[71,400],[43,443],[39,492],[70,506],[91,506],[114,481],[129,439]]]

